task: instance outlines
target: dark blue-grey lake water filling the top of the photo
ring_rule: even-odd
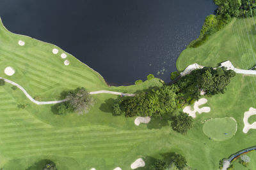
[[[214,10],[213,0],[0,1],[7,29],[60,46],[117,85],[150,73],[170,81]]]

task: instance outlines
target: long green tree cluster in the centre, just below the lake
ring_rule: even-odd
[[[177,108],[177,86],[164,85],[158,90],[141,92],[140,94],[124,99],[120,106],[125,117],[161,117],[172,113]]]

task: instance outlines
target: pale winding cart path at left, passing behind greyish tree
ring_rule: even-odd
[[[0,77],[0,78],[3,78],[3,77]],[[16,87],[18,87],[20,90],[22,90],[22,92],[24,92],[24,94],[28,97],[28,99],[35,103],[35,104],[56,104],[56,103],[62,103],[64,101],[66,101],[65,99],[64,100],[61,100],[61,101],[36,101],[35,99],[33,99],[33,97],[31,97],[28,92],[23,88],[21,87],[19,84],[11,81],[11,80],[8,80],[6,78],[3,78],[3,80],[6,82],[6,83],[10,83],[12,85],[15,85]],[[108,90],[100,90],[100,91],[95,91],[95,92],[89,92],[90,94],[115,94],[115,95],[123,95],[123,96],[135,96],[135,94],[125,94],[125,93],[122,93],[122,92],[113,92],[113,91],[108,91]]]

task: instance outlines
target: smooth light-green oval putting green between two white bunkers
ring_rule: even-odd
[[[234,118],[213,118],[204,123],[203,131],[214,141],[225,141],[236,134],[237,124]]]

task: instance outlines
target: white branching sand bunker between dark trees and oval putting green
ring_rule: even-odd
[[[184,113],[188,113],[189,116],[195,118],[196,117],[196,111],[201,114],[203,112],[208,113],[211,111],[210,107],[204,107],[204,108],[199,108],[200,105],[207,103],[207,99],[202,98],[199,99],[198,101],[195,102],[194,104],[194,110],[191,110],[191,106],[186,106],[183,110]]]

